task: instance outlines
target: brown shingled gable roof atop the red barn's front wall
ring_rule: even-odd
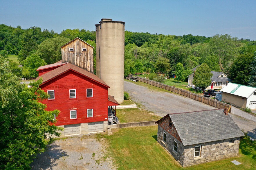
[[[99,77],[97,77],[93,73],[90,73],[90,72],[88,72],[84,69],[81,69],[81,68],[79,68],[73,64],[70,64],[70,63],[66,63],[52,71],[49,71],[49,72],[37,77],[36,80],[39,80],[39,78],[42,77],[43,78],[42,84],[44,84],[44,83],[54,79],[55,77],[58,77],[59,75],[61,75],[63,73],[66,73],[69,70],[75,71],[75,72],[95,81],[95,82],[102,84],[103,86],[110,88],[109,85],[107,85],[104,81],[102,81]]]

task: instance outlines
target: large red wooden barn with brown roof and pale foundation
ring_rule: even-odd
[[[46,110],[60,110],[55,125],[65,129],[62,136],[102,132],[109,121],[118,123],[112,108],[118,102],[108,95],[109,86],[96,75],[61,61],[37,71],[37,80],[43,78],[40,88],[50,95],[42,101]]]

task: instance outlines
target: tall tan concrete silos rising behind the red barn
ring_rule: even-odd
[[[101,19],[96,24],[96,74],[106,82],[109,95],[124,101],[125,22]]]

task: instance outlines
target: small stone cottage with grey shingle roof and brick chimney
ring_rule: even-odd
[[[158,143],[183,167],[238,156],[244,136],[228,109],[167,114],[156,123]]]

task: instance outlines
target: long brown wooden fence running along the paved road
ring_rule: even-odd
[[[218,109],[228,108],[228,112],[231,113],[231,105],[229,105],[229,104],[222,103],[220,101],[210,99],[210,98],[207,98],[207,97],[203,97],[201,95],[189,92],[187,90],[183,90],[183,89],[176,88],[176,87],[173,87],[173,86],[169,86],[169,85],[166,85],[166,84],[163,84],[163,83],[155,82],[153,80],[149,80],[149,79],[146,79],[146,78],[143,78],[143,77],[138,77],[136,75],[134,75],[134,77],[139,78],[140,82],[147,83],[147,84],[150,84],[152,86],[156,86],[158,88],[163,88],[165,90],[177,93],[177,94],[185,96],[185,97],[189,97],[190,99],[200,101],[204,104],[208,104],[208,105],[213,106],[213,107],[218,108]]]

